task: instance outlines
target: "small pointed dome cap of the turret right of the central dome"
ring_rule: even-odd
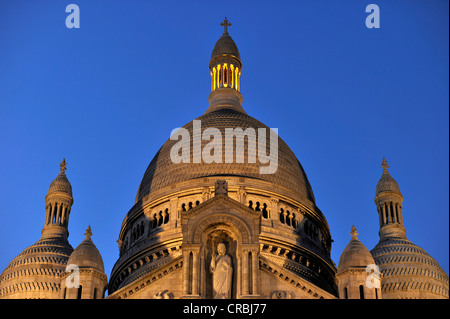
[[[350,268],[366,268],[375,261],[369,250],[356,237],[356,228],[352,227],[352,239],[343,250],[338,264],[338,273],[342,273]]]

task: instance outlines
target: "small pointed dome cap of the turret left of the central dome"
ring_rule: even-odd
[[[105,267],[102,256],[91,239],[91,226],[87,228],[85,235],[86,238],[72,252],[67,264],[75,264],[79,268],[93,268],[104,273]]]

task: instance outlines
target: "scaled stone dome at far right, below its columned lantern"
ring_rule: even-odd
[[[424,249],[406,238],[388,237],[371,251],[383,274],[383,298],[448,298],[445,271]]]

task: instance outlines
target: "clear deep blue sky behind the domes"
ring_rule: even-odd
[[[280,3],[281,2],[281,3]],[[65,8],[80,8],[68,29]],[[368,29],[365,8],[380,8]],[[91,225],[106,273],[141,178],[172,129],[208,107],[226,16],[247,113],[302,163],[339,256],[378,242],[386,157],[408,238],[449,272],[448,1],[0,2],[0,269],[39,240],[66,158],[69,241]]]

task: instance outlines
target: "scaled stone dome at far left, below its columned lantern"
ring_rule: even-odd
[[[14,258],[0,275],[1,298],[57,299],[73,248],[63,238],[41,238]]]

